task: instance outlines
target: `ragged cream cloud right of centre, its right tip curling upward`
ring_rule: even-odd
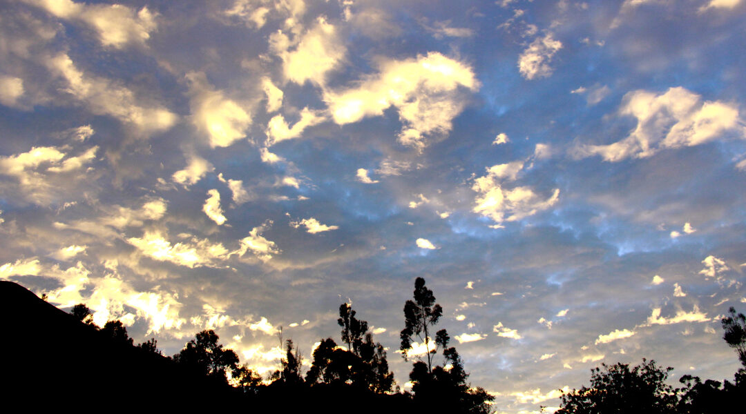
[[[523,162],[515,161],[486,168],[487,174],[474,179],[471,186],[477,192],[474,198],[476,206],[472,211],[491,218],[499,225],[504,221],[522,220],[554,206],[560,199],[559,188],[555,188],[549,198],[542,199],[530,187],[507,187],[517,179],[523,167]]]

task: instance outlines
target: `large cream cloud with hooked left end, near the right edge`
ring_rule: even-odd
[[[721,101],[701,102],[700,95],[683,87],[654,92],[636,90],[624,95],[620,116],[636,118],[627,138],[608,145],[585,145],[580,156],[600,155],[609,162],[645,158],[665,148],[693,147],[723,138],[727,132],[743,138],[736,106]]]

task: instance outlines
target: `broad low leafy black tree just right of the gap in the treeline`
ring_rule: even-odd
[[[623,363],[591,370],[591,386],[562,394],[557,414],[676,413],[677,390],[665,383],[673,368],[645,359],[630,369]]]

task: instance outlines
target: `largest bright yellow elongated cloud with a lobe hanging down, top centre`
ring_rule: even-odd
[[[394,106],[404,124],[398,141],[423,150],[430,142],[428,136],[451,131],[451,121],[465,105],[459,88],[479,89],[471,67],[430,52],[416,59],[383,60],[378,73],[366,77],[357,88],[325,91],[324,100],[339,125],[383,115]]]

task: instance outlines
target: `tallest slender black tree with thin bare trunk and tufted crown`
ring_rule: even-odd
[[[404,329],[399,335],[401,337],[401,356],[407,360],[407,351],[412,349],[414,337],[419,337],[427,352],[427,372],[433,372],[433,354],[436,349],[430,350],[429,329],[431,325],[438,323],[443,309],[435,303],[433,291],[424,286],[424,278],[416,278],[414,299],[404,303]]]

